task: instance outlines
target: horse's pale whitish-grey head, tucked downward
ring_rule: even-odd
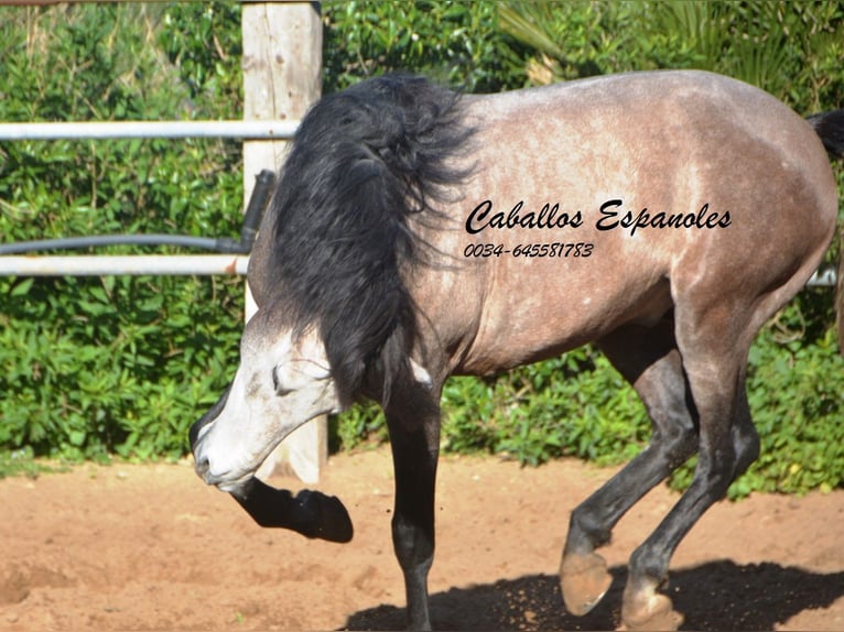
[[[342,408],[320,336],[277,320],[271,309],[249,320],[235,379],[191,428],[197,473],[223,491],[238,491],[299,426]]]

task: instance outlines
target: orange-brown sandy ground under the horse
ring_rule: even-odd
[[[623,520],[605,549],[614,585],[577,619],[562,607],[560,551],[570,511],[612,470],[444,458],[440,471],[439,629],[616,628],[625,562],[675,501],[659,488]],[[0,630],[402,628],[388,451],[334,457],[318,487],[349,509],[351,543],[261,530],[187,462],[1,480]],[[714,506],[672,564],[684,628],[844,630],[843,532],[844,490]]]

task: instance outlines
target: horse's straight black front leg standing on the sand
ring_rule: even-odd
[[[408,406],[407,402],[390,406],[387,410],[387,425],[396,470],[392,541],[404,575],[408,628],[430,630],[428,571],[434,559],[439,404],[432,400],[419,406]]]

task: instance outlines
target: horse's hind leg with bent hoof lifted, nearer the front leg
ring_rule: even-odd
[[[653,433],[645,450],[572,512],[560,575],[566,609],[578,615],[600,600],[612,580],[595,548],[608,543],[627,510],[685,462],[697,446],[695,413],[672,316],[651,328],[621,328],[599,346],[641,397]]]

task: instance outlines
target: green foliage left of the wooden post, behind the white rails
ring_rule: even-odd
[[[0,12],[2,120],[239,116],[236,6]],[[0,236],[236,236],[240,160],[221,141],[6,142]],[[0,277],[0,446],[181,456],[228,381],[241,328],[240,280]]]

